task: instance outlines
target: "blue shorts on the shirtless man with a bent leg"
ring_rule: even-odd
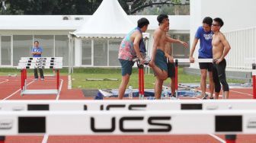
[[[165,52],[162,51],[161,49],[156,49],[155,65],[164,71],[168,71],[166,58],[165,58]]]

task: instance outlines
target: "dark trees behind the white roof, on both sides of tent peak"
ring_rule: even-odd
[[[101,5],[102,0],[6,0],[5,14],[84,14],[91,15]],[[155,6],[174,11],[173,5],[189,5],[189,0],[118,0],[127,14],[139,14]],[[132,11],[127,2],[133,2]],[[177,8],[180,8],[178,6]],[[189,8],[180,8],[179,11]],[[188,12],[189,13],[189,12]],[[172,13],[170,13],[172,14]]]

